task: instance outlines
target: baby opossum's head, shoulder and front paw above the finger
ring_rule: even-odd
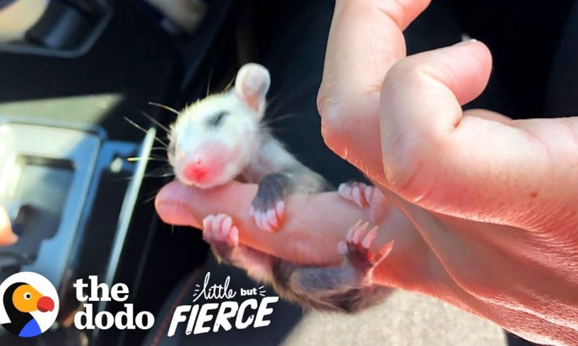
[[[283,220],[285,196],[331,189],[302,165],[261,124],[271,79],[263,66],[246,64],[230,92],[186,107],[171,126],[169,162],[184,184],[208,189],[232,179],[259,183],[249,213],[268,231]]]

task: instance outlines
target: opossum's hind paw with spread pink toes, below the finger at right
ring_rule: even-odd
[[[361,220],[351,226],[347,232],[346,241],[340,241],[337,245],[337,251],[348,258],[349,262],[360,270],[368,270],[377,266],[389,255],[394,246],[394,241],[382,246],[377,252],[371,251],[370,246],[377,237],[377,226],[372,227],[369,231],[369,222],[361,223]]]

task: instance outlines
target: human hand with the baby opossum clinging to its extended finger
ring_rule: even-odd
[[[374,243],[394,240],[394,249],[374,280],[534,342],[575,344],[578,121],[462,112],[485,88],[491,57],[468,42],[406,58],[401,30],[427,4],[337,1],[329,37],[318,102],[324,139],[391,203],[380,206]],[[197,227],[205,215],[227,213],[242,243],[317,264],[338,263],[348,225],[369,217],[337,193],[290,196],[287,222],[269,234],[246,212],[255,192],[252,184],[199,191],[175,182],[157,208],[167,222]]]

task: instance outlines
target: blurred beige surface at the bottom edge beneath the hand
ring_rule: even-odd
[[[418,294],[397,291],[380,306],[355,316],[309,312],[283,346],[505,346],[490,321]]]

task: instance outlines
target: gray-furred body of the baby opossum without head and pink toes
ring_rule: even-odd
[[[321,175],[288,153],[268,129],[261,129],[259,150],[242,173],[246,181],[259,184],[252,201],[255,210],[274,208],[291,193],[333,190]],[[355,246],[348,249],[341,266],[324,268],[297,266],[247,246],[206,241],[218,261],[247,270],[254,280],[272,285],[283,299],[306,309],[355,313],[381,302],[390,292],[388,287],[372,285],[374,264],[367,260],[367,252]]]

